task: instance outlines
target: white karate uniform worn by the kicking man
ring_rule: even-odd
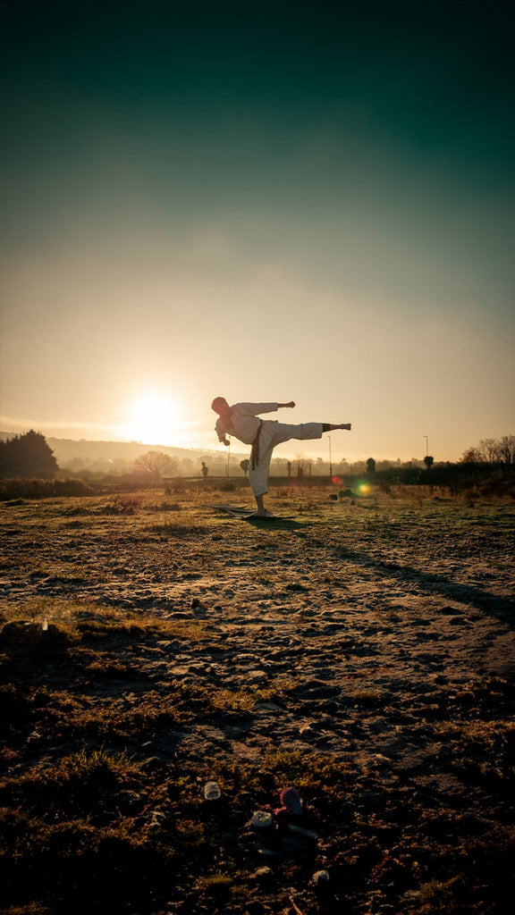
[[[221,416],[214,426],[221,442],[225,436],[236,436],[245,445],[252,445],[248,478],[255,496],[263,496],[268,492],[268,471],[276,445],[288,442],[290,438],[322,438],[322,423],[293,425],[279,423],[274,419],[257,419],[259,414],[275,413],[278,408],[278,404],[234,404],[231,407],[233,428],[227,428]]]

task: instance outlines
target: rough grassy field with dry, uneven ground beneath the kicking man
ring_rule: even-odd
[[[4,915],[511,912],[515,503],[331,495],[0,505]]]

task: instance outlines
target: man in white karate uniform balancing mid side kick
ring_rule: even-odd
[[[215,397],[211,404],[218,419],[214,428],[219,441],[229,445],[227,436],[236,436],[245,445],[251,445],[248,477],[257,503],[254,517],[270,517],[270,512],[263,505],[263,496],[268,492],[268,470],[272,451],[280,442],[290,438],[322,438],[324,432],[333,429],[349,429],[350,423],[331,425],[330,423],[301,423],[289,425],[277,420],[263,420],[257,417],[262,413],[275,413],[282,408],[291,408],[295,404],[233,404],[229,406],[225,397]]]

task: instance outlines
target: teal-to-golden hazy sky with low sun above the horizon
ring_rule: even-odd
[[[515,5],[0,0],[0,429],[515,432]],[[327,441],[279,457],[326,457]]]

